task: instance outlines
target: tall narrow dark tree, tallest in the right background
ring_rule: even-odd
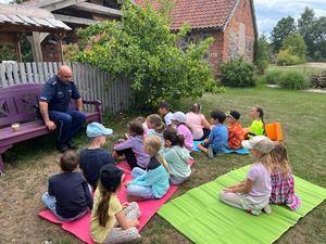
[[[308,56],[312,57],[313,53],[315,52],[315,44],[314,44],[314,33],[315,27],[315,13],[313,9],[305,8],[301,17],[298,20],[298,31],[302,36],[304,43],[306,46]]]

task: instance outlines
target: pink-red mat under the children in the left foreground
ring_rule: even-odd
[[[195,162],[189,162],[192,165]],[[126,162],[121,162],[117,167],[125,170],[126,180],[130,180],[130,168]],[[139,227],[138,230],[140,231],[146,223],[150,220],[150,218],[158,211],[158,209],[173,195],[173,193],[177,190],[178,187],[171,185],[167,193],[161,200],[148,200],[138,202],[139,208],[141,211],[141,216],[139,218]],[[126,202],[126,189],[122,187],[122,190],[118,194],[118,198],[121,203]],[[60,221],[50,210],[42,210],[38,214],[40,217],[54,222],[61,223],[63,230],[71,232],[72,234],[76,235],[79,240],[85,243],[93,244],[90,239],[90,213],[87,213],[83,218],[72,221],[72,222],[62,222]]]

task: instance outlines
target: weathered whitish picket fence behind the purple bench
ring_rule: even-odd
[[[87,64],[68,63],[73,80],[85,100],[100,100],[108,113],[118,113],[131,107],[130,84],[127,79],[113,80],[98,67]],[[20,84],[45,84],[58,73],[62,63],[0,63],[0,89]]]

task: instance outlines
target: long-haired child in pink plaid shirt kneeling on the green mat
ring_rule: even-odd
[[[272,193],[269,203],[286,205],[291,210],[297,210],[300,198],[294,194],[294,179],[289,165],[286,147],[276,142],[275,149],[271,152],[273,170],[271,175]]]

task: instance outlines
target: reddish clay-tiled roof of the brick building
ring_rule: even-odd
[[[151,0],[154,8],[159,4]],[[145,0],[136,0],[145,5]],[[184,23],[191,28],[222,28],[227,23],[237,0],[175,0],[171,29],[179,29]]]

